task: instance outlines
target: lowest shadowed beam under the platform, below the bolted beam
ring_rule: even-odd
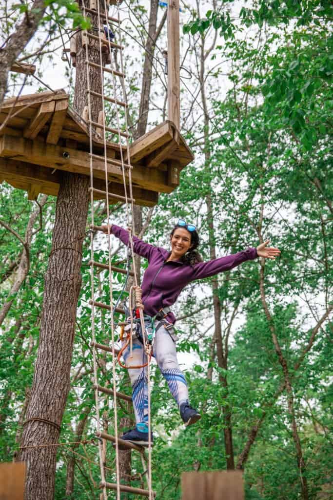
[[[60,177],[61,170],[53,171],[45,166],[0,157],[0,179],[18,189],[29,191],[29,189],[32,189],[31,185],[38,185],[39,192],[57,196]],[[105,190],[105,181],[94,178],[94,187]],[[109,182],[109,192],[123,196],[124,187],[121,183]],[[143,206],[154,206],[158,202],[157,192],[137,186],[133,186],[133,196],[136,204]],[[96,194],[94,198],[105,199],[105,196]],[[114,198],[114,202],[118,201],[118,199]]]

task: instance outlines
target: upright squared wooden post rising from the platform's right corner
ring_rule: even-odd
[[[180,127],[179,0],[168,2],[168,119]]]

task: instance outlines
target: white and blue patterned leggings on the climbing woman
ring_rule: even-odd
[[[157,325],[159,321],[155,322]],[[178,406],[188,400],[188,388],[185,376],[179,369],[177,361],[176,344],[168,330],[161,325],[155,336],[153,345],[155,357],[162,375],[166,379],[169,389],[176,399]],[[145,364],[147,354],[138,338],[133,338],[132,357],[130,347],[123,351],[127,366]],[[148,379],[147,367],[132,368],[128,370],[132,384],[132,401],[136,423],[148,421]]]

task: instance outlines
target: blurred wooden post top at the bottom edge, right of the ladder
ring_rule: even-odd
[[[244,500],[243,472],[183,472],[182,500]]]

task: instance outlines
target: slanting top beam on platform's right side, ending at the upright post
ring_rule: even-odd
[[[163,146],[172,138],[173,130],[170,121],[164,121],[157,125],[131,144],[129,151],[131,163],[136,163],[144,156],[148,156],[148,154]]]

